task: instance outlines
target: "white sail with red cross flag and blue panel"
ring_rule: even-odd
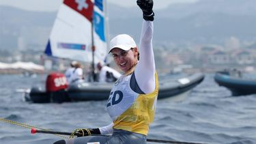
[[[59,8],[44,53],[52,57],[92,61],[91,25],[94,25],[94,61],[106,57],[104,5],[102,0],[64,0]]]

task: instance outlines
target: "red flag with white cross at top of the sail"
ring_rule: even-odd
[[[92,20],[94,3],[91,0],[64,0],[63,3],[85,16],[89,21]]]

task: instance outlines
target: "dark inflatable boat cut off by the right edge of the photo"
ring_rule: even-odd
[[[216,72],[214,80],[218,85],[229,89],[233,96],[244,96],[256,93],[256,80],[243,78],[240,72]]]

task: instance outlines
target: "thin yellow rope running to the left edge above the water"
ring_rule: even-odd
[[[45,130],[45,131],[51,131],[51,130],[48,130],[48,129],[45,129],[45,128],[40,128],[38,126],[31,126],[29,124],[24,124],[24,123],[20,123],[20,122],[17,122],[17,121],[12,121],[12,120],[9,120],[9,119],[4,119],[4,118],[1,118],[0,117],[0,121],[2,122],[5,122],[5,123],[8,123],[8,124],[13,124],[15,126],[21,126],[23,128],[28,128],[28,129],[31,129],[31,128],[38,128],[40,130]],[[60,136],[60,137],[63,137],[63,138],[66,138],[68,139],[69,137],[67,136],[63,136],[63,135],[60,135],[60,134],[55,134],[56,136]]]

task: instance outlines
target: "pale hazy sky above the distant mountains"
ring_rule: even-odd
[[[23,10],[52,12],[57,11],[63,0],[0,0],[0,5],[9,5]],[[107,0],[124,7],[137,5],[137,0]],[[173,3],[194,3],[199,0],[154,0],[154,9],[167,8]]]

